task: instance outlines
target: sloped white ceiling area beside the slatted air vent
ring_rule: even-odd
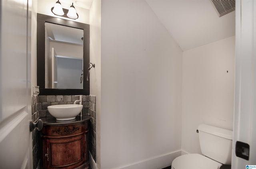
[[[218,17],[210,0],[146,0],[183,51],[235,35],[235,11]]]

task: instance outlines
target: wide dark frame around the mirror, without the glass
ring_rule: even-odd
[[[87,71],[84,72],[83,89],[56,89],[45,88],[45,22],[69,26],[84,30],[84,54],[83,67],[89,67],[90,63],[90,25],[62,18],[56,18],[48,15],[37,14],[37,85],[39,86],[39,95],[76,95],[90,94],[90,81],[86,81]]]

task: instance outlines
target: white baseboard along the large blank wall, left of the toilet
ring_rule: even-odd
[[[139,161],[130,165],[118,167],[119,169],[162,169],[172,164],[172,161],[181,155],[181,151],[159,155],[144,161]]]

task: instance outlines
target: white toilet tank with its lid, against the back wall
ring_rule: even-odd
[[[231,165],[233,131],[200,124],[198,134],[203,155],[222,164]]]

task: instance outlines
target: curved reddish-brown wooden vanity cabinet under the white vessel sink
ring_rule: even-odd
[[[44,124],[44,169],[88,169],[88,120]]]

